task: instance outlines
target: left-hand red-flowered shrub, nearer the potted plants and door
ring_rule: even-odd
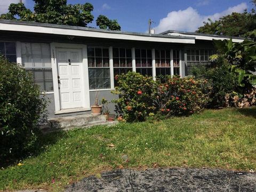
[[[129,72],[117,75],[119,86],[113,93],[119,95],[119,99],[113,100],[117,103],[118,113],[123,115],[122,121],[144,121],[149,113],[154,111],[153,95],[156,82],[152,77],[142,76],[139,73]]]

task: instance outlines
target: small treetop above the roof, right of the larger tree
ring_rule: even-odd
[[[121,30],[121,27],[118,24],[117,20],[110,20],[105,15],[99,15],[96,23],[97,26],[100,27],[100,29]]]

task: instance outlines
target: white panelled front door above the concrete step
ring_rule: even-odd
[[[60,109],[84,106],[81,49],[57,49]]]

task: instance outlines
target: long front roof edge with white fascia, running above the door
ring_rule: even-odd
[[[31,21],[1,20],[0,31],[17,31],[41,34],[58,34],[68,36],[84,36],[96,38],[126,39],[133,41],[165,42],[165,43],[195,43],[195,37],[170,36],[165,34],[146,34],[126,31],[95,29],[90,27],[77,27],[39,23]]]

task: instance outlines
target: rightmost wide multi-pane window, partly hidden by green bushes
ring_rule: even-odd
[[[193,67],[211,66],[211,61],[209,61],[210,56],[213,54],[213,50],[210,49],[189,49],[187,50],[187,70],[186,75],[191,75],[191,69]]]

